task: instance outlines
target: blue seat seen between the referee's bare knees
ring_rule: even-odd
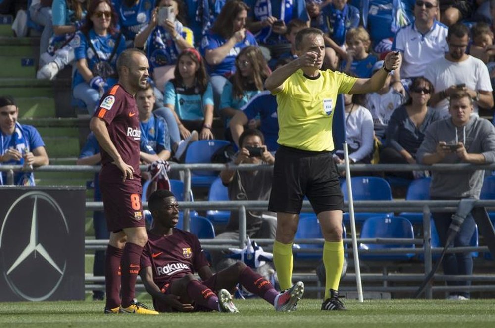
[[[346,227],[342,224],[342,238],[347,238]],[[295,239],[310,239],[310,238],[323,238],[321,233],[320,224],[318,218],[314,212],[302,213],[299,215],[299,225],[297,226],[297,232],[294,236]],[[298,259],[320,259],[323,253],[323,244],[294,244],[294,248],[299,249],[320,249],[318,253],[297,253],[294,252],[294,257]],[[345,245],[347,248],[347,245]],[[346,254],[346,257],[348,255]]]

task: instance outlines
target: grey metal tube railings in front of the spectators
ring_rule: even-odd
[[[342,169],[342,165],[338,165],[339,169]],[[142,169],[146,169],[147,166],[142,166]],[[189,230],[189,211],[191,209],[195,210],[207,210],[207,209],[217,209],[217,210],[238,210],[239,211],[239,231],[240,238],[239,240],[235,239],[203,239],[201,243],[204,245],[205,249],[228,249],[228,247],[244,247],[246,241],[246,209],[253,210],[264,210],[268,207],[267,201],[189,201],[189,195],[191,190],[191,170],[222,170],[222,169],[235,169],[235,170],[269,170],[272,169],[270,165],[232,165],[232,164],[171,164],[171,170],[180,170],[185,172],[185,181],[184,181],[184,202],[179,202],[180,206],[185,210],[184,211],[184,229]],[[100,169],[99,166],[74,166],[74,165],[47,165],[43,167],[39,167],[34,171],[40,172],[98,172]],[[13,174],[15,171],[22,170],[22,166],[20,165],[3,165],[0,166],[0,172],[7,172],[7,184],[13,183]],[[415,165],[415,164],[355,164],[351,165],[352,171],[366,171],[366,172],[380,172],[380,171],[410,171],[410,170],[428,170],[428,171],[473,171],[473,170],[495,170],[495,164],[491,165],[472,165],[472,164],[436,164],[436,165]],[[416,211],[423,213],[423,239],[389,239],[389,238],[377,238],[377,239],[358,239],[358,242],[365,243],[394,243],[394,244],[415,244],[422,245],[422,248],[395,248],[395,249],[387,249],[387,253],[424,253],[424,269],[425,274],[427,274],[432,267],[432,254],[441,253],[442,248],[431,248],[431,233],[430,233],[430,211],[433,209],[437,212],[455,212],[457,209],[459,201],[458,200],[442,200],[442,201],[432,201],[432,200],[424,200],[424,201],[355,201],[354,206],[358,211],[366,211],[366,212],[383,212],[384,209],[386,211],[391,212],[403,212],[403,211]],[[147,208],[148,204],[144,203],[143,207]],[[345,203],[345,210],[347,210],[347,202]],[[495,209],[495,200],[479,200],[476,202],[475,206],[484,206],[487,208]],[[86,202],[86,209],[95,211],[102,210],[103,203],[102,202]],[[421,210],[420,210],[421,209]],[[308,201],[303,202],[303,211],[311,211],[312,208]],[[272,244],[272,239],[254,239],[260,245]],[[324,242],[323,239],[296,239],[295,243],[299,244],[322,244]],[[346,244],[351,244],[351,239],[345,239],[344,242]],[[89,240],[85,241],[85,248],[88,250],[97,250],[97,249],[106,249],[106,245],[108,240]],[[482,247],[456,247],[453,249],[449,249],[447,252],[471,252],[471,251],[487,251],[486,246]],[[318,249],[295,249],[295,252],[321,252]],[[346,250],[347,252],[351,252],[351,250]],[[384,253],[384,251],[380,250],[366,250],[360,251],[361,253]],[[351,275],[347,275],[347,278],[344,281],[350,280]],[[295,278],[299,278],[298,275],[294,276]],[[408,274],[404,276],[395,276],[395,275],[363,275],[365,277],[365,281],[403,281],[409,279],[409,281],[421,281],[424,279],[425,275],[415,275]],[[471,281],[488,281],[495,282],[495,276],[493,275],[472,275],[472,276],[445,276],[445,275],[436,275],[436,281],[445,281],[446,279],[469,279]],[[312,281],[314,281],[314,275],[312,277]],[[101,282],[103,278],[97,277],[87,277],[86,282]],[[307,277],[306,277],[307,279]],[[86,290],[96,290],[102,288],[101,285],[98,284],[86,284]],[[317,287],[319,291],[321,291],[321,287]],[[371,289],[370,289],[371,288]],[[365,288],[367,290],[373,291],[388,291],[388,292],[409,292],[416,290],[416,287],[370,287]],[[495,290],[495,284],[492,285],[475,285],[475,286],[428,286],[426,289],[425,296],[426,298],[432,298],[433,291],[441,290],[447,291],[449,289],[455,288],[456,290],[471,290],[471,291],[493,291]],[[309,288],[311,290],[314,288]],[[316,289],[315,289],[316,290]],[[349,289],[351,290],[351,289]],[[346,291],[346,288],[343,289]]]

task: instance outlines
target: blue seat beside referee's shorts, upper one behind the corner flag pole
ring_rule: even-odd
[[[387,180],[379,177],[352,177],[352,198],[354,200],[392,200],[392,190]],[[342,183],[344,201],[348,201],[347,180]],[[355,212],[356,223],[363,223],[373,216],[393,215],[393,213]],[[349,213],[344,213],[343,221],[349,223]]]

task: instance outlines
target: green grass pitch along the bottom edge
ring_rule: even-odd
[[[150,302],[148,302],[150,305]],[[302,299],[297,311],[275,312],[265,301],[235,300],[240,313],[104,315],[104,303],[0,303],[0,327],[258,328],[258,327],[495,327],[495,300],[345,300],[348,311],[321,311],[320,300]]]

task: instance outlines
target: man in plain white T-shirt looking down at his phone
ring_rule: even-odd
[[[474,100],[474,114],[478,107],[492,108],[494,99],[487,66],[465,53],[469,45],[469,29],[462,23],[448,30],[448,53],[429,65],[425,77],[433,83],[436,93],[431,105],[442,117],[449,115],[448,97],[458,90],[466,91]]]

